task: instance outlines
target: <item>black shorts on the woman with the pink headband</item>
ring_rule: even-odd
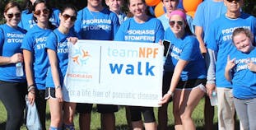
[[[207,79],[191,79],[191,80],[188,80],[188,81],[181,81],[179,80],[179,83],[176,87],[176,89],[188,89],[188,90],[191,90],[193,89],[193,87],[196,87],[200,84],[202,84],[203,86],[205,86],[207,82]]]

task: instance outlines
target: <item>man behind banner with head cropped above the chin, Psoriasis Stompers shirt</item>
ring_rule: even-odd
[[[77,14],[74,29],[79,39],[113,40],[119,28],[119,18],[102,6],[102,0],[87,1],[87,7]],[[77,104],[80,129],[90,129],[92,104]],[[115,127],[114,112],[118,107],[112,104],[97,104],[101,114],[102,129],[113,130]]]

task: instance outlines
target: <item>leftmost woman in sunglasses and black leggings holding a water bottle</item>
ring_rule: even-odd
[[[3,15],[6,24],[0,26],[0,100],[7,109],[6,130],[19,130],[27,92],[20,49],[26,30],[17,26],[21,21],[21,7],[16,2],[8,2]],[[16,75],[16,64],[21,65],[23,76]]]

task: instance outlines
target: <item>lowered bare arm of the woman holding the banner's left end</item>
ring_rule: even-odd
[[[57,53],[52,49],[47,49],[47,53],[49,56],[49,63],[53,75],[54,86],[60,86]],[[61,87],[55,88],[55,96],[58,98],[59,102],[63,101],[63,93]]]

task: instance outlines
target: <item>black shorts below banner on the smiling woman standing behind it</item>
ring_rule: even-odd
[[[129,106],[132,122],[142,120],[142,114],[144,123],[156,122],[154,109],[152,107],[141,107],[141,106]]]

